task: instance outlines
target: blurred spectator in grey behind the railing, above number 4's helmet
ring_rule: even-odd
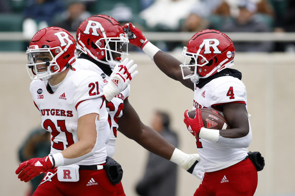
[[[221,27],[223,32],[270,32],[270,27],[255,15],[257,6],[250,0],[238,0],[238,17],[228,20]],[[218,29],[219,30],[219,29]],[[272,42],[234,42],[236,51],[269,52],[273,49]]]

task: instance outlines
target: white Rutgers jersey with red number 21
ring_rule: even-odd
[[[103,99],[103,80],[89,70],[69,70],[67,76],[51,94],[46,89],[47,81],[33,80],[30,91],[38,108],[45,130],[51,132],[50,154],[59,153],[78,141],[78,105],[85,100],[101,97]],[[104,101],[99,111],[100,142],[96,145],[95,154],[76,164],[102,164],[106,160],[106,143],[109,140],[108,113]]]

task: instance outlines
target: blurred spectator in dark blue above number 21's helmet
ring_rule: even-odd
[[[23,34],[31,38],[38,30],[51,25],[53,16],[64,11],[62,0],[28,0],[23,15]]]

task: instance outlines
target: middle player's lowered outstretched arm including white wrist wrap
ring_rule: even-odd
[[[131,124],[132,126],[130,126]],[[144,125],[128,99],[124,100],[124,112],[122,117],[118,120],[118,125],[121,133],[133,139],[148,151],[178,164],[198,178],[202,177],[202,166],[199,163],[199,154],[187,154],[182,152],[166,141],[157,131]]]

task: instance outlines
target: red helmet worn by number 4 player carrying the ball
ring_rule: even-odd
[[[206,29],[197,32],[183,47],[184,62],[180,65],[183,79],[191,78],[194,83],[221,70],[234,66],[234,43],[224,33]],[[194,72],[185,76],[184,67],[195,67]]]

